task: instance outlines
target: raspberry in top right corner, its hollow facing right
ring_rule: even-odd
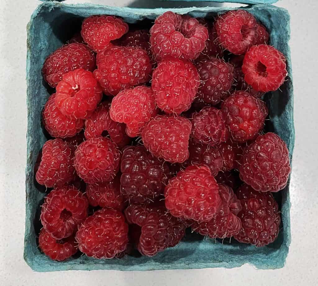
[[[245,10],[233,10],[219,15],[214,27],[219,43],[235,55],[245,54],[262,37],[255,17]]]

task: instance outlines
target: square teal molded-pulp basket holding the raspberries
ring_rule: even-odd
[[[215,0],[221,2],[221,0]],[[224,2],[224,1],[223,1]],[[232,2],[256,3],[245,0]],[[273,0],[259,0],[273,3]],[[293,122],[293,82],[288,40],[290,37],[289,14],[287,10],[270,4],[255,4],[242,9],[251,12],[270,33],[270,44],[280,50],[287,58],[287,81],[280,90],[267,93],[265,102],[270,110],[266,131],[278,134],[289,149],[290,159],[294,148]],[[218,13],[232,10],[222,7],[178,8],[178,9],[137,9],[101,6],[95,4],[67,4],[45,2],[38,6],[27,26],[27,164],[26,164],[26,222],[24,238],[24,259],[29,266],[40,272],[59,270],[155,270],[155,269],[196,269],[239,267],[250,263],[259,269],[277,269],[284,266],[290,234],[290,195],[289,184],[275,194],[281,210],[281,229],[274,243],[262,248],[234,241],[204,239],[196,234],[187,234],[174,248],[166,249],[156,256],[130,255],[124,259],[98,260],[87,256],[71,257],[65,262],[55,262],[45,256],[37,247],[40,229],[39,210],[43,203],[45,190],[35,181],[34,166],[37,156],[45,143],[45,133],[41,126],[41,112],[52,91],[42,79],[41,68],[45,58],[79,30],[84,17],[95,14],[116,15],[127,23],[143,19],[154,20],[167,10],[193,17],[212,18]]]

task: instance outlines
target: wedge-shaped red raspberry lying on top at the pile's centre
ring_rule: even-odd
[[[189,157],[190,120],[181,116],[157,115],[142,130],[142,142],[152,155],[171,163]]]

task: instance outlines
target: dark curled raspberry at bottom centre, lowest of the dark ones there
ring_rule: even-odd
[[[131,204],[125,210],[125,215],[128,223],[139,226],[134,228],[135,240],[142,255],[154,256],[159,251],[175,246],[184,236],[184,224],[171,216],[162,204]]]

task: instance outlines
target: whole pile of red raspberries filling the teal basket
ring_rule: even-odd
[[[291,168],[286,143],[263,130],[262,98],[286,80],[284,55],[245,10],[212,20],[165,12],[143,28],[88,17],[43,64],[55,90],[35,166],[47,192],[39,248],[58,261],[154,256],[186,228],[272,243],[272,192]]]

